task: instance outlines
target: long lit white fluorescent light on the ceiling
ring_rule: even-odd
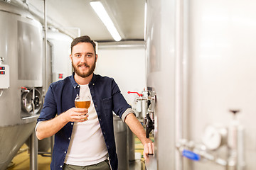
[[[121,40],[122,38],[119,35],[117,28],[114,27],[114,23],[110,19],[110,16],[107,14],[107,11],[105,10],[102,3],[100,1],[92,1],[90,2],[90,5],[100,17],[101,21],[105,24],[107,30],[112,35],[112,38],[114,38],[115,41]]]

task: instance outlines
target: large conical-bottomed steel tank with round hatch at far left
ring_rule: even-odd
[[[0,169],[33,132],[42,106],[42,26],[0,1]]]

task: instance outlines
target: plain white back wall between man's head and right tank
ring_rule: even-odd
[[[146,87],[144,42],[133,45],[98,46],[98,60],[95,73],[113,77],[127,102],[136,107],[135,94],[127,91],[138,91]]]

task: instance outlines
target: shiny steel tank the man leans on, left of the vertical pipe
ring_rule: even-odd
[[[179,164],[175,147],[178,135],[174,97],[175,6],[176,1],[146,1],[146,85],[156,94],[154,158],[157,162],[156,166],[147,166],[147,169],[176,169]]]

